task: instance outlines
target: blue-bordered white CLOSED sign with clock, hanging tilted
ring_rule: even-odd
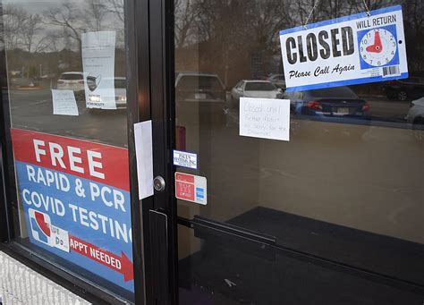
[[[408,77],[401,5],[280,31],[287,92]]]

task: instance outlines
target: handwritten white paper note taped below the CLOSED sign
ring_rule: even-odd
[[[290,100],[241,97],[240,135],[290,140]]]

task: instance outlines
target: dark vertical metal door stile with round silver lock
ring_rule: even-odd
[[[165,179],[153,205],[143,205],[147,303],[178,304],[177,211],[174,199],[174,1],[149,4],[150,99],[154,176]],[[148,256],[150,255],[150,259]]]

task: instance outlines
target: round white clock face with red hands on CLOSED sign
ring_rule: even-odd
[[[370,66],[390,64],[396,50],[395,34],[386,28],[369,30],[360,38],[360,58]]]

